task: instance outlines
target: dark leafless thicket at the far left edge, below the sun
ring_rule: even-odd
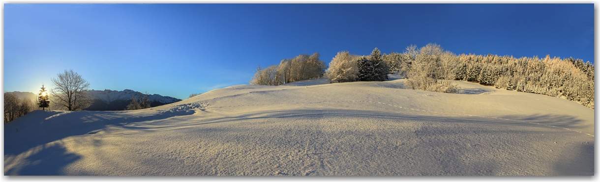
[[[14,93],[4,93],[4,123],[8,123],[35,110],[35,102],[19,98]]]

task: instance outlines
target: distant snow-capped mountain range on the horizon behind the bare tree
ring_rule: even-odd
[[[15,93],[19,98],[31,99],[37,101],[37,94],[31,92],[11,92]],[[88,95],[94,99],[92,105],[84,110],[88,111],[121,111],[127,108],[127,105],[131,103],[131,97],[140,98],[141,92],[134,90],[125,89],[123,91],[117,90],[89,90]],[[159,105],[171,104],[173,102],[179,102],[181,99],[173,98],[170,96],[161,96],[158,94],[148,95],[150,98],[150,106],[157,107]]]

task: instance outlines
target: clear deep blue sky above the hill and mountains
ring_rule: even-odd
[[[593,4],[4,4],[4,92],[73,69],[95,90],[185,99],[248,84],[257,65],[319,52],[474,54],[593,62]]]

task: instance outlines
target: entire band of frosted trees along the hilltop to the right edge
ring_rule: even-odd
[[[418,90],[457,93],[451,80],[472,81],[498,89],[564,98],[594,108],[594,65],[572,57],[520,57],[454,54],[437,44],[403,53],[359,56],[340,51],[326,66],[319,53],[281,60],[279,65],[257,68],[251,84],[277,86],[293,81],[326,77],[331,83],[383,81],[400,74],[406,85]]]

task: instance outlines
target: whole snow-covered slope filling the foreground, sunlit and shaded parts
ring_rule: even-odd
[[[238,85],[4,125],[5,175],[593,175],[593,110],[457,81]]]

